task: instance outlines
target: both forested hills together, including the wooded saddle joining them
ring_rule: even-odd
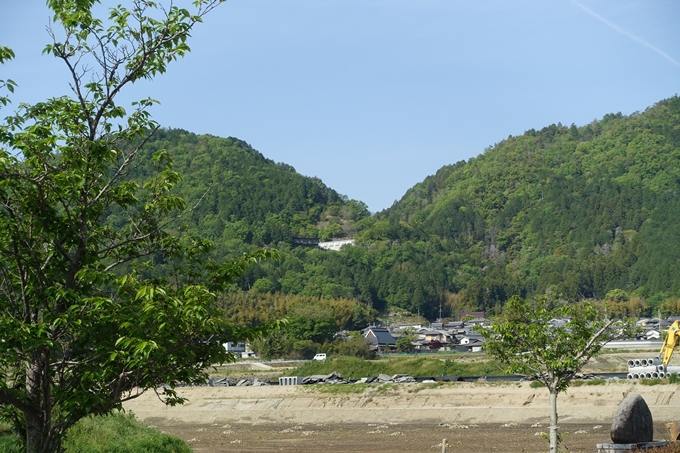
[[[184,179],[190,232],[217,256],[273,246],[241,291],[356,300],[428,317],[498,309],[513,294],[604,298],[656,310],[680,296],[680,98],[643,113],[510,136],[441,168],[369,215],[245,142],[159,131]],[[143,169],[135,175],[143,178]],[[349,236],[339,252],[294,236]],[[664,305],[665,304],[665,305]]]

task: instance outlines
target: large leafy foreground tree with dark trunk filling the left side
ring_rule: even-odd
[[[134,0],[107,21],[93,16],[96,3],[48,1],[63,39],[50,29],[45,53],[65,63],[72,96],[22,104],[0,125],[0,416],[30,453],[59,451],[79,419],[161,384],[166,403],[181,403],[176,384],[233,359],[222,343],[267,328],[225,323],[211,290],[273,254],[218,265],[205,259],[209,242],[168,232],[187,210],[162,150],[143,185],[126,179],[158,127],[155,101],[128,112],[116,97],[188,52],[192,27],[220,1],[190,12]],[[0,61],[12,56],[0,49]],[[181,265],[150,278],[156,263]]]

